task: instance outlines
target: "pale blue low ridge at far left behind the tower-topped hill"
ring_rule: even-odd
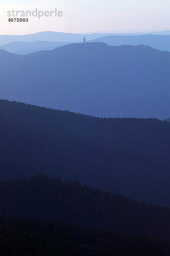
[[[2,45],[0,48],[8,52],[24,55],[32,52],[43,50],[53,50],[57,47],[70,44],[69,42],[48,42],[48,41],[35,41],[33,43],[26,42],[11,42]]]

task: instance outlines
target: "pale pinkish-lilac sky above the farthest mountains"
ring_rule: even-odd
[[[62,17],[8,21],[8,11],[55,10]],[[19,16],[18,16],[19,17]],[[19,17],[20,18],[20,17]],[[22,17],[23,18],[23,17]],[[58,32],[149,32],[170,30],[170,0],[0,0],[0,35]]]

